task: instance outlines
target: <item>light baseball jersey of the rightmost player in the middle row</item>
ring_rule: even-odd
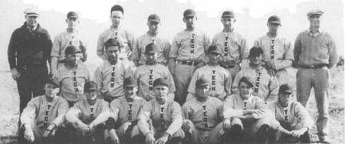
[[[254,70],[251,67],[244,68],[236,74],[231,90],[233,93],[239,93],[239,79],[248,76],[254,82],[253,95],[258,96],[266,103],[272,103],[278,98],[279,82],[275,76],[268,74],[265,68]]]

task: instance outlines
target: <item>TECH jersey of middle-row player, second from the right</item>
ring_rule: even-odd
[[[231,74],[228,70],[219,65],[205,65],[195,70],[188,87],[187,101],[195,97],[195,82],[205,78],[210,81],[210,96],[224,101],[225,97],[231,94]]]

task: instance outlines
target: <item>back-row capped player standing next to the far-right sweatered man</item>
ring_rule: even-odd
[[[264,50],[263,59],[268,72],[277,76],[279,83],[287,83],[286,68],[293,64],[293,48],[290,41],[278,34],[282,26],[278,16],[270,16],[267,26],[267,34],[255,40],[254,45]]]

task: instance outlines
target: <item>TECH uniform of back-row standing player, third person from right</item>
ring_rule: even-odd
[[[246,39],[235,30],[219,32],[213,37],[212,44],[221,48],[223,53],[220,57],[221,66],[230,72],[232,79],[235,79],[237,72],[241,70],[239,64],[242,63],[243,67],[248,59],[249,50]]]

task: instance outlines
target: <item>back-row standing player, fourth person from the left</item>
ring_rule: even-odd
[[[137,67],[146,63],[145,47],[149,43],[155,43],[158,48],[157,62],[166,65],[168,63],[168,54],[170,51],[170,43],[168,40],[161,38],[159,34],[159,27],[161,26],[161,18],[157,14],[150,14],[148,16],[148,32],[141,35],[135,41],[132,59]]]

